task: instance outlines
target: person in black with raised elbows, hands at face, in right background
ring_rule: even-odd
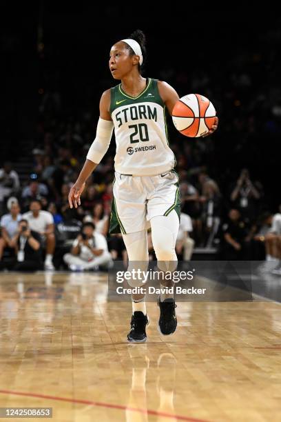
[[[250,179],[249,170],[244,168],[230,195],[233,206],[240,209],[244,219],[253,221],[258,217],[258,201],[261,198],[260,191],[260,183],[256,186]]]

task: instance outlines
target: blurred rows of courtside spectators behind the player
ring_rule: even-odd
[[[127,263],[121,234],[108,234],[112,205],[112,157],[96,168],[81,196],[81,206],[70,209],[68,192],[81,162],[70,145],[57,145],[57,154],[33,151],[30,180],[21,186],[11,163],[0,169],[0,268],[13,270],[101,270],[114,260]],[[55,145],[55,144],[54,144]],[[52,157],[54,157],[52,159]],[[181,218],[176,241],[178,259],[189,261],[196,248],[216,251],[219,259],[279,260],[281,214],[264,203],[259,181],[242,169],[224,197],[205,168],[190,177],[183,160],[180,175]],[[156,259],[151,235],[149,257]],[[280,270],[278,270],[280,271]]]

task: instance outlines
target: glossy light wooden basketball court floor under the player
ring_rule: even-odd
[[[1,273],[0,297],[2,408],[50,407],[59,422],[281,421],[277,302],[178,303],[173,336],[149,302],[148,341],[129,344],[131,304],[107,301],[105,274]]]

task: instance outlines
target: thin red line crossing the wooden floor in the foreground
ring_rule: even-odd
[[[70,397],[61,397],[61,396],[49,396],[48,394],[36,394],[30,392],[20,392],[20,391],[12,391],[12,390],[0,390],[0,394],[12,394],[14,396],[27,396],[27,397],[34,397],[36,399],[48,399],[48,400],[56,400],[56,401],[66,401],[68,403],[76,403],[76,404],[85,404],[91,405],[101,408],[111,408],[117,410],[129,410],[131,412],[138,412],[142,414],[150,414],[154,416],[163,416],[165,418],[174,418],[180,421],[189,421],[189,422],[208,422],[206,419],[196,419],[191,418],[189,416],[182,416],[178,414],[171,414],[166,412],[158,412],[157,410],[151,409],[142,409],[142,408],[130,408],[125,405],[116,405],[111,403],[103,403],[101,401],[90,401],[90,400],[82,400],[82,399],[71,399]]]

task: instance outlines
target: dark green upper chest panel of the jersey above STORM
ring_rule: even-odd
[[[130,97],[128,94],[126,94],[121,88],[121,83],[111,88],[110,114],[112,114],[114,110],[119,107],[135,105],[136,103],[156,103],[163,107],[163,109],[165,108],[165,103],[159,94],[157,79],[149,78],[147,86],[143,92],[138,95],[138,97]]]

